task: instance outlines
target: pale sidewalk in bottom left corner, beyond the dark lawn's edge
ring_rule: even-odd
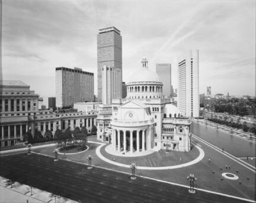
[[[5,203],[27,203],[27,202],[53,202],[55,203],[55,196],[46,191],[41,191],[37,188],[32,188],[28,185],[21,185],[18,182],[15,182],[11,186],[5,185],[5,178],[0,176],[0,202]],[[56,196],[56,203],[75,203],[71,199],[66,199],[61,196]]]

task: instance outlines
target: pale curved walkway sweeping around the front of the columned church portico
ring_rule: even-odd
[[[95,151],[97,156],[101,160],[104,160],[104,162],[110,163],[112,165],[130,168],[130,165],[125,165],[123,163],[114,162],[113,160],[110,160],[110,159],[107,159],[106,157],[104,157],[100,152],[101,147],[103,147],[104,145],[105,144],[101,144],[100,146],[97,147],[97,149]],[[187,162],[187,163],[183,163],[181,165],[175,165],[175,166],[161,166],[161,167],[137,166],[137,169],[140,169],[140,170],[168,170],[168,169],[178,169],[180,167],[186,167],[186,166],[194,165],[195,163],[200,162],[200,160],[202,160],[203,157],[204,157],[203,149],[201,149],[201,147],[199,147],[199,146],[195,146],[195,147],[199,150],[200,154],[196,159],[192,160],[191,162]]]

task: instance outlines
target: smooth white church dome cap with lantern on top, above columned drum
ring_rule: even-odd
[[[161,82],[157,73],[148,69],[148,60],[142,59],[142,68],[130,76],[129,83],[134,82]]]

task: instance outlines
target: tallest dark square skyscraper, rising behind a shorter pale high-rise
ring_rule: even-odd
[[[119,68],[122,71],[122,38],[117,28],[108,27],[99,30],[97,35],[97,61],[98,101],[102,101],[103,86],[101,73],[103,66]]]

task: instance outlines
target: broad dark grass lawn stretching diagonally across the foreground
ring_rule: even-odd
[[[38,154],[0,157],[0,175],[81,202],[243,202]]]

